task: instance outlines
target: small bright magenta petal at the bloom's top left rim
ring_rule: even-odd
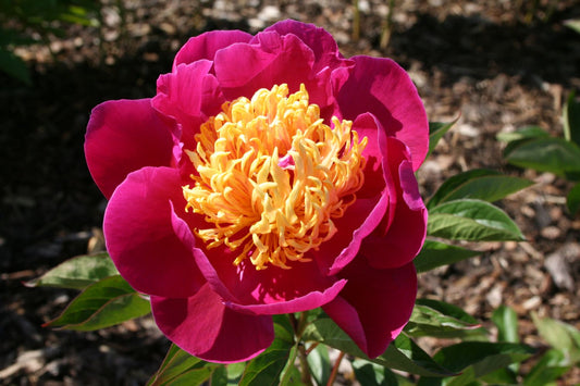
[[[173,69],[182,63],[189,64],[202,59],[212,61],[218,50],[235,42],[248,42],[252,37],[242,30],[212,30],[193,37],[175,55]]]

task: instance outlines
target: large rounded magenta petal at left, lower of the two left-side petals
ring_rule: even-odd
[[[192,251],[175,236],[172,204],[185,208],[178,172],[144,167],[113,192],[104,212],[107,249],[139,292],[187,297],[205,283]]]

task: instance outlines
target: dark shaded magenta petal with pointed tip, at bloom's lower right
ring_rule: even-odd
[[[417,296],[415,266],[377,270],[360,257],[344,276],[347,285],[322,309],[367,356],[375,358],[409,321]]]

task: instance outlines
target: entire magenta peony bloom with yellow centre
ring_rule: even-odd
[[[270,346],[273,314],[326,312],[369,357],[408,322],[429,140],[408,75],[294,21],[189,39],[151,99],[94,109],[103,229],[159,328],[201,359]]]

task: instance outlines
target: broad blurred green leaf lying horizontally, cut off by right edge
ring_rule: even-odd
[[[563,138],[536,138],[515,147],[506,161],[566,177],[569,173],[580,173],[580,148]]]

